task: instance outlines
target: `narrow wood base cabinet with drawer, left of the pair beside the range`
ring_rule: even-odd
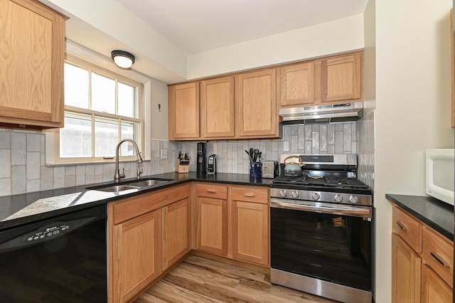
[[[196,249],[228,255],[228,186],[196,184]]]

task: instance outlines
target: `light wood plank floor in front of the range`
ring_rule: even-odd
[[[335,302],[274,286],[261,272],[190,255],[135,303]]]

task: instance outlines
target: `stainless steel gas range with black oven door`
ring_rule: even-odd
[[[373,208],[353,154],[299,155],[301,176],[270,189],[270,280],[341,302],[371,302]]]

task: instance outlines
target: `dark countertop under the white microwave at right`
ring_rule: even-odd
[[[405,196],[387,193],[385,198],[450,240],[454,240],[454,206],[428,196]]]

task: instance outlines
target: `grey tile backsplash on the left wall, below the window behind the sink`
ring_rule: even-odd
[[[151,161],[139,164],[142,174],[161,174],[175,169],[178,142],[152,141]],[[168,159],[160,159],[168,149]],[[115,163],[45,165],[45,134],[0,131],[0,196],[94,184],[114,179]],[[137,173],[136,161],[121,162],[127,178]]]

